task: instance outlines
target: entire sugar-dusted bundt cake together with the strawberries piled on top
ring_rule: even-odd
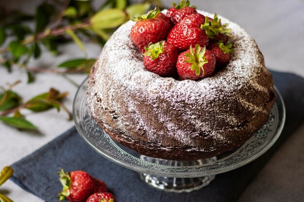
[[[163,13],[155,8],[120,26],[89,76],[93,118],[142,155],[220,155],[265,124],[275,100],[253,38],[189,5],[182,0]]]

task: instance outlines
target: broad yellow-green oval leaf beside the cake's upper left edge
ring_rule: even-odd
[[[116,28],[126,20],[126,14],[120,9],[101,10],[91,18],[92,27],[99,29]]]

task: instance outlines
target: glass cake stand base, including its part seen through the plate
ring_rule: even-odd
[[[202,165],[202,164],[212,163],[217,160],[216,156],[212,158],[205,158],[194,161],[173,161],[173,160],[152,158],[145,155],[141,155],[140,158],[164,166]],[[139,173],[139,175],[140,175],[140,179],[146,182],[149,186],[152,186],[154,188],[163,191],[175,192],[175,193],[191,192],[191,191],[199,190],[204,186],[209,185],[209,183],[215,178],[215,175],[208,175],[203,177],[185,177],[185,178],[163,177],[163,176],[152,175],[147,173]]]

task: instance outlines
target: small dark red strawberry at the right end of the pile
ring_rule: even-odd
[[[217,67],[223,67],[229,63],[230,53],[233,52],[231,44],[227,44],[225,46],[223,41],[220,40],[219,43],[212,43],[207,48],[215,56]]]

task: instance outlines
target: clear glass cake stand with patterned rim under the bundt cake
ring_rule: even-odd
[[[87,79],[76,93],[73,114],[81,137],[100,155],[120,166],[139,172],[148,185],[170,192],[191,192],[207,186],[215,175],[239,168],[264,154],[279,138],[285,107],[275,88],[276,100],[269,119],[241,147],[212,158],[173,161],[140,155],[113,141],[92,118],[87,107]]]

